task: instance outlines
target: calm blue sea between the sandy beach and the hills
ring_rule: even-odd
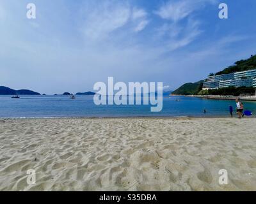
[[[93,96],[0,96],[0,117],[209,117],[229,116],[235,101],[172,96],[163,98],[163,110],[150,112],[151,105],[100,105]],[[176,101],[179,99],[180,101]],[[256,115],[256,102],[243,101],[245,110]],[[207,113],[204,113],[204,109]]]

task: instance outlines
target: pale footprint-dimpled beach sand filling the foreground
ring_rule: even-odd
[[[256,119],[0,121],[1,191],[256,191]],[[36,184],[27,184],[27,171]],[[228,185],[219,184],[221,169]]]

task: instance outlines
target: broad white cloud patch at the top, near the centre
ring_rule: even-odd
[[[147,12],[132,7],[127,1],[106,0],[100,3],[89,2],[83,6],[84,24],[82,30],[86,38],[102,40],[118,29],[139,32],[145,29],[149,20]],[[125,27],[125,25],[129,25]],[[124,28],[125,27],[125,28]]]

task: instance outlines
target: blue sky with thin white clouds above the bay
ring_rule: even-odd
[[[0,85],[83,92],[114,77],[173,90],[256,54],[255,10],[255,0],[1,0]]]

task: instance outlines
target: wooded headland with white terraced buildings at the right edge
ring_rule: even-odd
[[[256,78],[254,79],[252,77],[239,78],[239,80],[241,81],[243,80],[244,81],[243,84],[246,84],[246,85],[232,86],[232,84],[230,84],[232,82],[236,82],[236,80],[232,79],[232,75],[240,71],[252,70],[253,72],[253,69],[256,69],[256,55],[251,55],[251,57],[246,60],[237,61],[234,63],[234,65],[229,66],[228,68],[225,68],[222,71],[219,71],[215,74],[210,73],[207,79],[205,80],[200,80],[195,83],[183,84],[178,89],[173,91],[172,95],[184,95],[184,96],[188,96],[188,95],[239,96],[241,94],[255,95],[255,87],[253,87],[253,85],[247,85],[246,80],[251,80],[250,83],[252,84],[252,83],[255,83],[254,80],[256,80]],[[221,76],[225,76],[227,79],[223,77],[222,81],[221,80],[218,81],[216,78]],[[210,87],[205,89],[204,85],[207,84],[207,82],[209,82],[210,85],[216,85],[216,87],[213,87],[213,88]],[[220,82],[221,82],[221,86],[220,86]],[[227,85],[228,83],[229,85]]]

